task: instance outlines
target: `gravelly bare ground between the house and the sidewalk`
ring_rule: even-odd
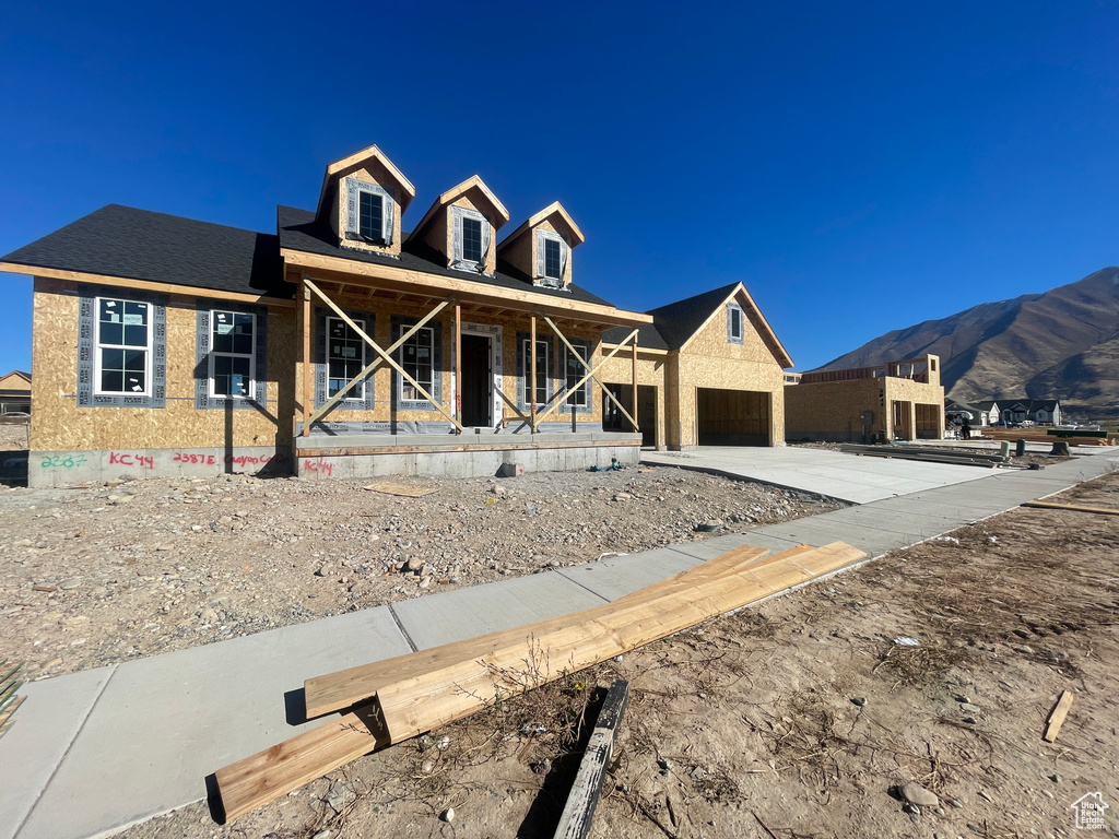
[[[671,468],[0,488],[0,659],[30,678],[836,509]],[[655,512],[652,512],[655,511]]]

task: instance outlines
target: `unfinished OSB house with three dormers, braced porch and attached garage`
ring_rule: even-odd
[[[279,207],[275,233],[110,205],[3,257],[35,276],[30,483],[636,462],[632,403],[614,394],[632,394],[641,365],[627,375],[611,359],[613,388],[598,368],[611,351],[661,351],[656,315],[573,281],[583,234],[558,202],[499,244],[509,214],[477,176],[404,233],[414,195],[370,147],[327,167],[313,210]],[[697,321],[679,367],[695,387],[749,383],[762,362],[747,348],[780,345],[768,326],[754,333],[764,321],[744,290],[714,298],[726,321]],[[614,329],[651,343],[604,342]],[[722,348],[707,346],[715,332]],[[726,348],[725,370],[700,375]],[[636,420],[656,417],[658,444],[686,444],[696,408],[677,406],[685,379],[657,378],[662,351],[648,381],[665,407],[646,416],[639,403]],[[777,353],[779,377],[791,362]],[[780,428],[780,392],[768,422]]]

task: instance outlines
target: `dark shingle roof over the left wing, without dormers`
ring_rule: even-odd
[[[3,262],[291,298],[276,236],[110,204]]]

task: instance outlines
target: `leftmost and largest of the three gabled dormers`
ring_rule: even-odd
[[[401,255],[401,216],[415,187],[376,145],[331,163],[322,179],[317,218],[342,247]]]

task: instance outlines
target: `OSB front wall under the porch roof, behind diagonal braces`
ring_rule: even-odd
[[[348,294],[331,294],[331,300],[333,300],[341,309],[346,311],[361,311],[373,314],[373,332],[370,338],[377,342],[383,349],[387,349],[393,343],[393,315],[398,315],[402,318],[415,318],[421,319],[427,314],[434,304],[426,307],[414,307],[406,305],[403,302],[386,301],[374,298],[360,296],[360,295],[348,295]],[[316,348],[318,346],[318,334],[317,334],[317,317],[314,314],[316,309],[323,305],[321,301],[312,301],[311,308],[311,352],[312,352],[312,364],[314,361]],[[436,375],[440,376],[440,386],[442,394],[442,403],[445,408],[454,413],[452,394],[451,394],[451,370],[452,368],[452,347],[454,345],[454,307],[446,307],[433,319],[439,322],[440,334],[442,340],[442,370],[438,371]],[[530,329],[530,323],[526,317],[524,320],[510,320],[508,318],[502,320],[497,320],[493,318],[486,318],[473,312],[463,312],[462,321],[464,323],[480,323],[485,326],[499,326],[501,327],[501,371],[502,371],[502,392],[509,398],[509,402],[517,404],[517,333],[528,332]],[[553,388],[558,390],[562,385],[563,370],[561,368],[561,362],[563,360],[563,343],[556,338],[552,330],[548,328],[542,319],[536,321],[536,333],[539,339],[551,338],[552,342],[552,369],[548,371],[549,377],[553,379]],[[568,329],[564,331],[564,336],[568,339],[584,339],[590,341],[592,349],[591,366],[596,364],[596,359],[601,357],[601,350],[599,348],[599,333],[596,331],[590,330],[579,330]],[[302,347],[302,338],[299,338],[299,346]],[[299,355],[302,353],[302,349],[297,351]],[[366,364],[374,360],[376,353],[372,348],[366,349],[365,358]],[[297,390],[300,394],[300,399],[302,398],[302,381],[303,381],[303,364],[301,358],[295,359],[294,381],[299,383]],[[312,370],[311,380],[314,380],[314,375]],[[421,421],[421,422],[448,422],[446,416],[438,409],[432,411],[394,411],[393,409],[393,370],[387,364],[382,364],[376,368],[373,376],[373,387],[374,387],[374,409],[347,409],[345,407],[345,402],[339,405],[339,407],[332,409],[327,416],[322,418],[327,423],[345,423],[345,422],[387,422],[391,420],[397,421]],[[313,398],[313,393],[312,393]],[[505,418],[513,422],[517,418],[517,415],[511,408],[505,403]],[[540,407],[537,408],[538,411]],[[525,412],[527,413],[527,411]],[[545,422],[556,422],[562,417],[570,417],[571,412],[564,408],[560,408],[558,412],[552,412],[545,417]],[[495,423],[500,420],[500,416],[495,418]],[[579,414],[577,422],[602,422],[602,408],[598,402],[592,402],[592,413],[590,414]]]

